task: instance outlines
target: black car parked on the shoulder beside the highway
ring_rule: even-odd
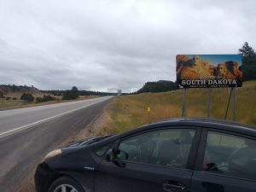
[[[38,192],[255,192],[256,129],[170,119],[48,154]]]

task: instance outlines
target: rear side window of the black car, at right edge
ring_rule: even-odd
[[[203,169],[256,179],[256,140],[209,131]]]

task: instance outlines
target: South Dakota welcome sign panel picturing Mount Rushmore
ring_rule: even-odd
[[[241,87],[241,55],[177,55],[178,88]]]

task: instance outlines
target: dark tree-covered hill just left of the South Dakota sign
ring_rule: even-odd
[[[145,92],[166,92],[170,90],[177,90],[176,82],[160,80],[157,82],[147,82],[143,85],[143,88],[137,90],[136,93],[145,93]]]

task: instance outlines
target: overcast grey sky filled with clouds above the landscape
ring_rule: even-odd
[[[256,49],[251,0],[0,0],[0,84],[137,90],[177,54]]]

